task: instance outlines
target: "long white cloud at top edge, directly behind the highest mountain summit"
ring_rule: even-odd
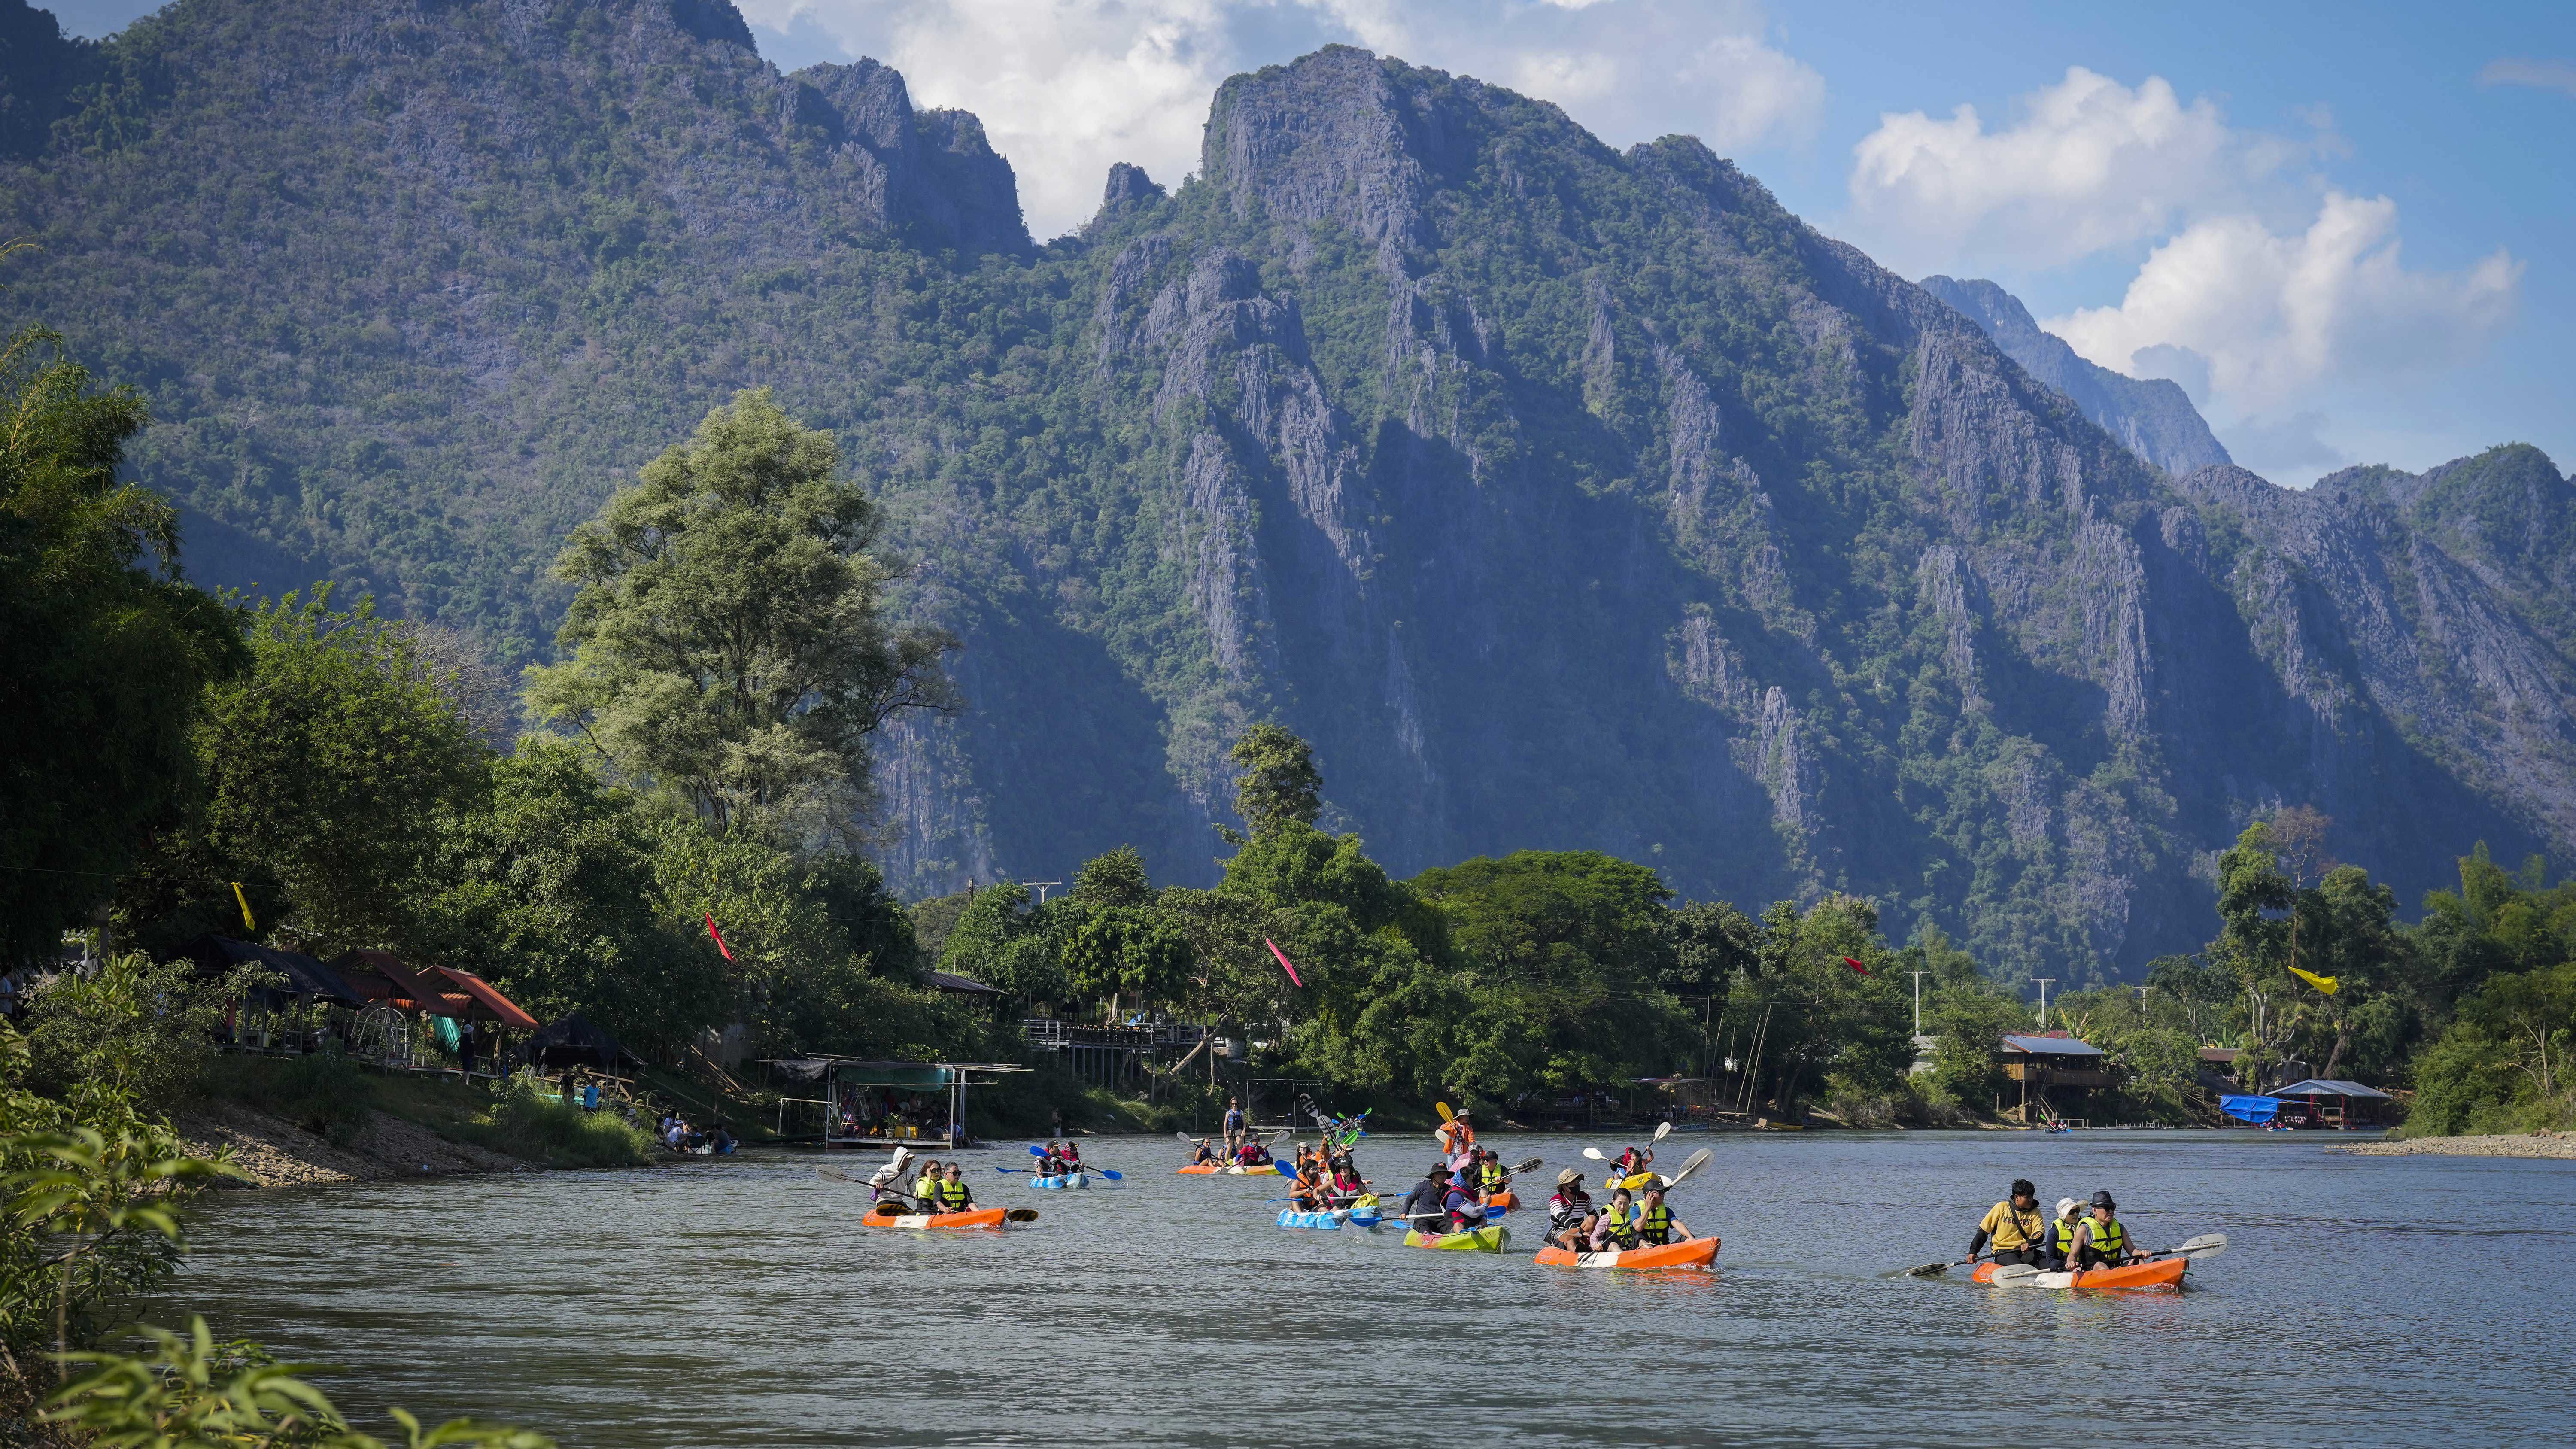
[[[1602,139],[1718,150],[1806,137],[1824,77],[1752,0],[739,0],[768,41],[817,31],[904,72],[917,106],[984,121],[1036,237],[1079,227],[1110,162],[1177,183],[1218,83],[1332,41],[1556,101]]]

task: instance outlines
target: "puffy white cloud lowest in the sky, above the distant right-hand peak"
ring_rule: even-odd
[[[2321,384],[2458,361],[2512,317],[2519,281],[2504,250],[2460,273],[2406,271],[2396,201],[2326,193],[2303,232],[2254,217],[2192,222],[2146,258],[2117,307],[2040,325],[2130,376],[2154,366],[2141,353],[2184,348],[2221,405],[2269,413]]]

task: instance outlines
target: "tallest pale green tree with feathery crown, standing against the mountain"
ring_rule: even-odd
[[[737,817],[848,838],[868,804],[868,740],[904,709],[948,709],[953,639],[884,616],[881,518],[837,477],[832,433],[768,389],[737,392],[580,526],[556,578],[580,585],[531,673],[541,719]]]

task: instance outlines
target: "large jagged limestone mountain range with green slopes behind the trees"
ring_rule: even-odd
[[[2172,480],[1687,137],[1334,46],[1033,245],[971,116],[716,0],[178,0],[82,57],[0,307],[149,392],[191,567],[541,657],[562,531],[775,387],[966,642],[881,755],[914,895],[1213,877],[1252,719],[1396,869],[1852,890],[2007,975],[2197,944],[2277,804],[2409,900],[2576,846],[2548,459]]]

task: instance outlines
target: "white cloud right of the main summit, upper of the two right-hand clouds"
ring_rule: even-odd
[[[2071,67],[2022,108],[1991,131],[1976,106],[1947,121],[1880,116],[1852,147],[1852,222],[1865,245],[1906,271],[2066,263],[2244,201],[2303,150],[2231,129],[2215,101],[2182,103],[2156,75],[2128,88]]]

